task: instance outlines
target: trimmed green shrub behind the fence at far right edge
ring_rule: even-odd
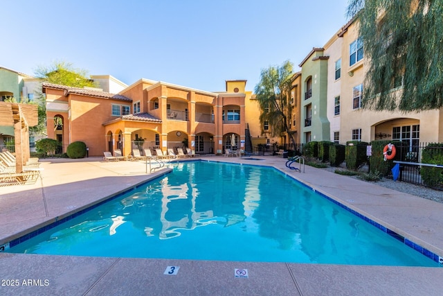
[[[443,164],[443,143],[429,143],[428,146],[422,150],[422,163]],[[422,166],[420,174],[426,186],[443,186],[443,167],[433,168],[431,166]]]

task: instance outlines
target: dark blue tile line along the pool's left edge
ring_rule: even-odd
[[[9,247],[15,247],[16,245],[19,245],[20,243],[23,243],[24,241],[28,241],[28,239],[33,238],[34,236],[37,236],[39,234],[42,234],[42,233],[48,231],[49,229],[52,229],[52,228],[54,228],[54,227],[56,227],[56,226],[58,226],[60,224],[63,224],[66,221],[69,221],[69,220],[71,220],[71,219],[73,219],[73,218],[75,218],[77,216],[80,216],[80,215],[86,213],[87,211],[91,211],[93,209],[96,209],[96,207],[99,207],[100,205],[105,204],[106,202],[109,202],[109,200],[114,200],[116,198],[119,198],[122,195],[125,195],[125,194],[127,194],[127,193],[129,193],[131,191],[134,191],[134,189],[140,188],[141,186],[145,185],[146,183],[149,183],[149,182],[152,182],[154,180],[160,179],[161,177],[164,177],[166,174],[167,173],[159,175],[157,177],[154,177],[153,179],[141,182],[141,183],[139,183],[139,184],[137,184],[135,186],[132,186],[131,188],[124,189],[123,191],[120,191],[116,195],[109,195],[109,197],[106,198],[105,200],[102,200],[101,202],[93,204],[90,207],[87,207],[86,209],[82,209],[80,211],[76,211],[75,213],[73,213],[73,214],[71,214],[69,216],[66,216],[66,217],[64,217],[64,218],[62,218],[60,220],[57,219],[57,217],[56,217],[55,221],[53,223],[48,224],[48,225],[46,225],[46,226],[44,226],[42,228],[34,230],[33,232],[30,232],[28,234],[25,234],[24,236],[20,236],[19,238],[15,238],[14,240],[10,241],[9,242]]]

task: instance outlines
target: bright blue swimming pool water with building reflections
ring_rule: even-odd
[[[174,164],[8,252],[156,259],[437,266],[273,168]]]

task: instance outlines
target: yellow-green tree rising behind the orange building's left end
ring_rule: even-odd
[[[40,66],[35,70],[35,77],[42,82],[68,87],[95,87],[94,82],[87,78],[87,71],[75,69],[69,62],[54,62],[49,67]],[[46,134],[46,100],[42,92],[36,93],[39,123],[30,128],[33,132]]]

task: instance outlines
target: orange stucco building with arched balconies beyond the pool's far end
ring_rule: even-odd
[[[225,92],[147,79],[118,94],[49,83],[42,87],[48,137],[61,141],[64,152],[69,143],[83,141],[89,155],[117,148],[124,155],[142,147],[165,151],[183,143],[195,153],[224,153],[227,148],[244,149],[247,118],[254,126],[257,119],[246,80],[227,80]],[[246,115],[246,105],[255,112]]]

